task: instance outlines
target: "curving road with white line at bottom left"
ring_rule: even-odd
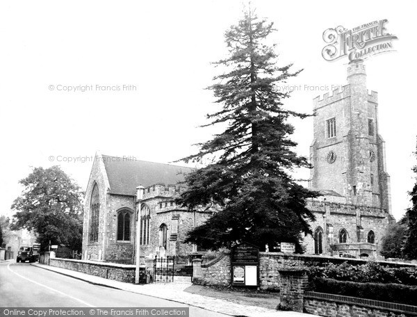
[[[30,263],[0,263],[0,307],[190,307],[44,270]],[[190,307],[190,317],[224,317]]]

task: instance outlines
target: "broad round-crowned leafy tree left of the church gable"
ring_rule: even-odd
[[[26,228],[38,235],[41,249],[64,244],[81,250],[83,193],[59,166],[34,168],[25,179],[20,197],[13,202],[13,229]]]

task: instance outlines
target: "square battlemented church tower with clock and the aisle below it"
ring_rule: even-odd
[[[304,240],[306,252],[377,256],[394,218],[377,92],[368,93],[363,61],[349,63],[347,85],[313,103],[309,187],[322,197],[308,203],[316,221],[313,236]]]

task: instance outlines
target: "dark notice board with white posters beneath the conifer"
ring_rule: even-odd
[[[231,249],[231,285],[259,286],[259,247],[241,243]]]

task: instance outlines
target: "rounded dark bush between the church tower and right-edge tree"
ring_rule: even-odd
[[[381,254],[386,258],[402,259],[402,248],[407,234],[407,218],[389,225],[382,239]]]

